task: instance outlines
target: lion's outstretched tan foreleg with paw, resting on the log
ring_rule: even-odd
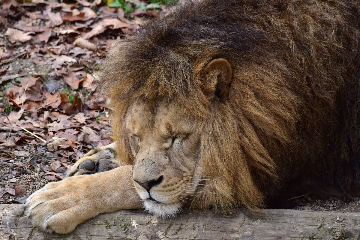
[[[25,214],[44,231],[66,234],[99,213],[139,209],[142,202],[131,175],[131,166],[126,165],[49,183],[30,195]]]

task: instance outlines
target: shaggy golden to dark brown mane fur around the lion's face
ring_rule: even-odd
[[[356,0],[184,1],[101,66],[120,158],[132,163],[130,102],[168,98],[198,119],[213,177],[194,206],[257,208],[306,185],[359,194],[359,29]],[[226,102],[202,91],[201,71],[218,57],[233,68]]]

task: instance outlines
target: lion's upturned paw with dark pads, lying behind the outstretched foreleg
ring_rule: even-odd
[[[117,159],[115,143],[111,143],[91,149],[66,171],[66,177],[104,172],[122,165]]]

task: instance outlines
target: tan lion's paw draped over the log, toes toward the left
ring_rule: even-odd
[[[31,194],[25,204],[25,214],[33,226],[46,232],[65,234],[98,213],[86,203],[87,194],[77,186],[86,176],[76,176],[45,185]]]

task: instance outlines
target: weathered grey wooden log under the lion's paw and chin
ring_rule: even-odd
[[[267,209],[267,214],[237,210],[228,214],[211,211],[183,212],[161,220],[143,211],[100,214],[66,235],[46,234],[23,215],[22,204],[0,204],[1,240],[360,240],[360,212],[325,212]]]

